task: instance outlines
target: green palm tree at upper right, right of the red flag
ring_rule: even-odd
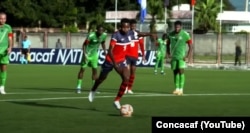
[[[195,22],[198,29],[205,31],[218,31],[219,24],[216,21],[217,14],[220,12],[220,3],[218,0],[197,1],[195,6]]]

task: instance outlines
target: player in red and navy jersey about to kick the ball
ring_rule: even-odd
[[[126,18],[121,19],[120,24],[120,30],[115,32],[111,37],[108,54],[102,65],[101,73],[99,78],[95,81],[88,97],[89,101],[93,102],[98,86],[107,78],[109,72],[114,68],[122,78],[119,92],[114,101],[114,105],[117,109],[121,108],[120,99],[124,95],[129,81],[129,68],[127,67],[126,51],[127,47],[134,39],[134,32],[130,30],[130,20]]]

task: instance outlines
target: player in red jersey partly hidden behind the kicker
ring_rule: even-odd
[[[130,21],[130,28],[131,30],[134,32],[134,39],[132,40],[131,44],[128,46],[127,48],[127,63],[128,63],[128,67],[130,69],[130,77],[129,77],[129,83],[128,83],[128,87],[126,90],[126,93],[129,94],[133,94],[132,91],[132,86],[134,83],[134,79],[135,79],[135,71],[136,71],[136,62],[138,60],[138,51],[139,51],[139,47],[141,50],[141,54],[142,54],[142,60],[145,61],[145,50],[144,50],[144,41],[143,41],[143,37],[139,36],[139,31],[136,30],[136,20],[132,19]]]

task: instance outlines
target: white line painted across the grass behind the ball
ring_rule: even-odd
[[[111,94],[111,93],[110,93]],[[134,95],[124,95],[124,97],[154,97],[154,96],[175,96],[173,94],[160,94],[160,93],[138,93]],[[217,93],[217,94],[184,94],[183,96],[250,96],[250,93]],[[175,96],[175,97],[183,97]],[[111,98],[112,96],[95,96],[95,98]],[[2,99],[0,102],[11,102],[11,101],[47,101],[47,100],[69,100],[69,99],[87,99],[84,97],[52,97],[52,98],[30,98],[30,99]]]

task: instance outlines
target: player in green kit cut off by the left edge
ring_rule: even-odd
[[[7,15],[0,13],[0,94],[6,94],[5,83],[9,54],[13,46],[13,33],[10,25],[6,24]]]

